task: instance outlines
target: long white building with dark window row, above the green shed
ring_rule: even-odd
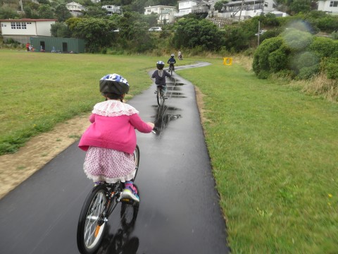
[[[21,43],[30,42],[32,36],[51,37],[51,25],[56,19],[9,19],[0,20],[1,32],[4,39],[12,38]]]

